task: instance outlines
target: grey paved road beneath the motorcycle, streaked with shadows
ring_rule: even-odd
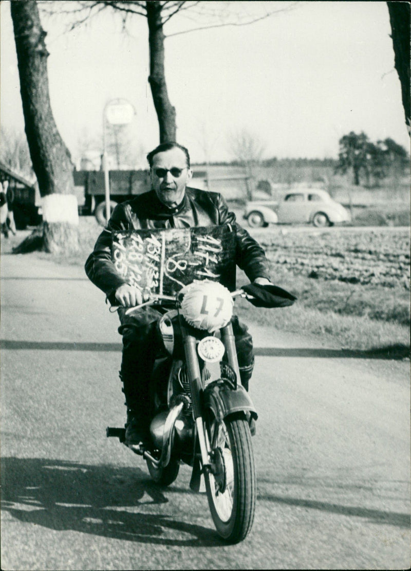
[[[409,568],[409,362],[251,328],[257,512],[226,546],[188,468],[158,488],[105,438],[120,336],[82,268],[3,254],[1,278],[2,569]]]

